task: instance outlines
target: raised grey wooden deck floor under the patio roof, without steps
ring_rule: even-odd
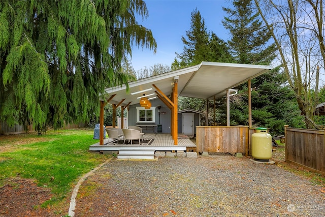
[[[107,144],[112,141],[112,139],[104,139],[104,145],[100,143],[95,143],[89,146],[90,151],[119,151],[125,149],[146,149],[155,151],[196,151],[196,145],[189,139],[184,138],[182,134],[178,135],[178,145],[174,145],[174,140],[170,134],[154,134],[146,133],[143,135],[143,139],[154,139],[150,145],[123,145],[123,139],[119,140],[119,144]]]

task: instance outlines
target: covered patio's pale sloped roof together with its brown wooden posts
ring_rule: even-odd
[[[245,64],[227,64],[203,61],[199,65],[175,70],[172,72],[159,74],[156,76],[129,82],[128,89],[126,85],[109,87],[106,89],[106,96],[101,99],[100,112],[100,142],[99,146],[104,148],[104,106],[109,103],[113,106],[113,118],[115,118],[115,109],[120,106],[121,113],[129,109],[132,105],[139,104],[140,98],[150,96],[150,99],[157,98],[161,104],[165,105],[171,112],[171,139],[173,145],[178,142],[178,97],[191,97],[205,100],[215,100],[227,96],[227,126],[230,126],[229,98],[232,92],[236,91],[234,87],[248,82],[249,96],[249,128],[252,127],[251,121],[251,79],[262,75],[272,67],[261,65]],[[149,100],[150,100],[149,99]],[[160,114],[160,113],[159,113]],[[128,117],[135,118],[135,117]],[[122,116],[123,119],[123,116]],[[208,118],[207,118],[208,119]],[[207,123],[208,126],[208,123]],[[115,119],[113,119],[113,128]],[[123,128],[123,121],[122,126]],[[248,141],[248,140],[247,140]],[[199,144],[198,144],[199,145]],[[245,149],[248,145],[245,144]],[[98,148],[99,150],[100,148]],[[247,150],[246,150],[247,152]]]

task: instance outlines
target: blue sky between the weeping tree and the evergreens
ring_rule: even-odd
[[[207,30],[214,32],[223,40],[229,39],[229,32],[224,29],[221,20],[227,16],[222,7],[231,7],[227,0],[147,0],[149,16],[138,19],[138,23],[151,29],[157,42],[157,52],[146,48],[134,47],[131,63],[138,71],[154,64],[170,66],[176,57],[175,52],[182,52],[182,36],[190,28],[191,13],[197,8],[204,18]]]

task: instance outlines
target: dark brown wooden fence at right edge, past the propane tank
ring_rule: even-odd
[[[284,126],[285,161],[325,174],[324,130]]]

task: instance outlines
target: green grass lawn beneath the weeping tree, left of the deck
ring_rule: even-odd
[[[32,178],[54,194],[46,204],[65,198],[78,178],[110,156],[89,152],[93,130],[48,131],[0,138],[0,186],[10,178]]]

